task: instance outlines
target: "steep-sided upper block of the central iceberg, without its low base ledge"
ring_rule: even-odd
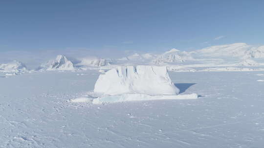
[[[94,92],[108,95],[139,93],[176,95],[179,89],[171,81],[165,66],[127,66],[100,74]]]

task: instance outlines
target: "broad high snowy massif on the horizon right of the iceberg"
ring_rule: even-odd
[[[192,52],[171,49],[157,56],[156,65],[193,65],[207,66],[258,66],[264,62],[264,46],[253,47],[246,43],[211,46]]]

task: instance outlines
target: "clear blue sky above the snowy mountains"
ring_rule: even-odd
[[[1,0],[0,51],[264,44],[264,0]]]

